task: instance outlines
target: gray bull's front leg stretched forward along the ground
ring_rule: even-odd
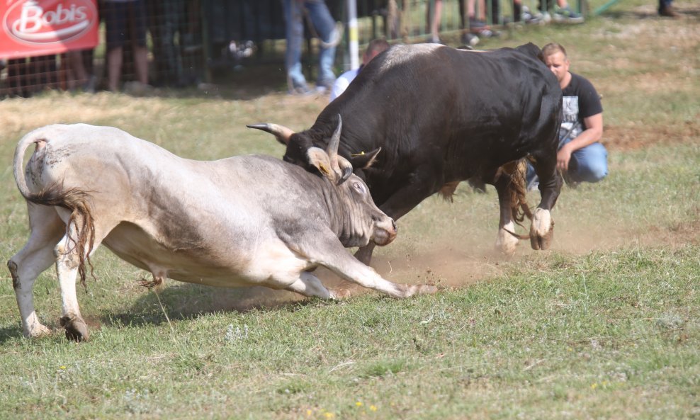
[[[336,238],[328,239],[325,246],[315,246],[322,249],[323,254],[312,258],[320,265],[328,268],[341,278],[357,283],[365,288],[377,290],[393,297],[410,297],[422,293],[435,293],[437,288],[432,285],[402,285],[385,280],[373,268],[366,266],[347,253],[346,249]],[[318,251],[310,251],[310,256]]]

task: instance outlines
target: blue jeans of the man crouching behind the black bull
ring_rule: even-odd
[[[567,139],[559,144],[559,148],[572,139]],[[586,147],[575,150],[571,154],[569,169],[566,174],[570,181],[574,182],[598,182],[608,174],[608,151],[599,142],[589,144]],[[535,169],[527,165],[527,185],[531,186],[536,181]]]

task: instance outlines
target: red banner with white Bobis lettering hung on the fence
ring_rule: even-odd
[[[96,0],[0,0],[0,58],[94,48]]]

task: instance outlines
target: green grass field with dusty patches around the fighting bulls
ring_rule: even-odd
[[[492,188],[425,200],[377,250],[385,278],[443,287],[409,300],[330,276],[353,296],[173,280],[154,293],[137,285],[147,273],[100,249],[78,292],[91,328],[81,344],[59,331],[53,270],[34,295],[57,332],[24,339],[3,269],[0,419],[700,419],[700,9],[676,4],[689,11],[679,21],[621,1],[585,25],[484,45],[563,42],[604,97],[611,173],[564,188],[550,251],[523,242],[510,259],[495,254]],[[11,165],[35,127],[114,125],[193,159],[279,157],[245,124],[303,129],[327,101],[251,93],[236,77],[216,97],[0,101],[0,259],[28,236]]]

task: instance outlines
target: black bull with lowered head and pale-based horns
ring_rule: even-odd
[[[286,161],[308,170],[310,147],[326,147],[338,115],[339,154],[369,186],[379,208],[395,220],[424,198],[450,195],[459,181],[495,186],[500,206],[496,246],[512,254],[514,223],[532,220],[533,249],[553,237],[551,209],[561,188],[556,172],[562,92],[531,43],[492,51],[442,45],[395,45],[373,59],[349,88],[303,132],[276,124],[249,127],[286,144]],[[526,204],[524,158],[539,177],[541,202]],[[349,168],[346,168],[349,171]],[[368,263],[373,247],[360,249]]]

